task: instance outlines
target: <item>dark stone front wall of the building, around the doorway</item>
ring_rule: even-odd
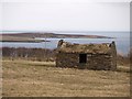
[[[79,63],[78,53],[57,53],[56,66],[76,67],[86,69],[114,70],[116,65],[112,55],[108,54],[87,54],[87,63]],[[114,66],[114,67],[113,67]]]

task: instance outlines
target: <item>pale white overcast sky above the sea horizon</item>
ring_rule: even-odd
[[[0,31],[130,31],[130,0],[1,0]]]

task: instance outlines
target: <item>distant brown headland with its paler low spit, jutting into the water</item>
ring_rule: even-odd
[[[56,34],[56,33],[12,33],[0,34],[0,42],[41,43],[51,42],[40,38],[114,38],[103,35]],[[36,40],[37,38],[37,40]]]

